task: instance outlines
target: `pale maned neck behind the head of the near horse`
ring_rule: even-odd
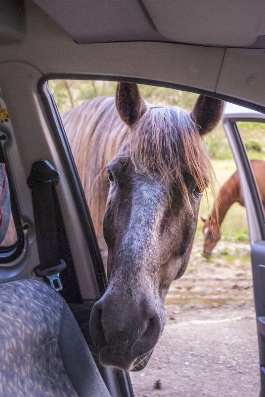
[[[116,111],[114,98],[86,101],[62,120],[100,242],[109,188],[106,165],[116,155],[128,128]]]

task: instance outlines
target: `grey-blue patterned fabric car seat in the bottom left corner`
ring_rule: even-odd
[[[110,397],[68,305],[44,282],[0,283],[0,396]]]

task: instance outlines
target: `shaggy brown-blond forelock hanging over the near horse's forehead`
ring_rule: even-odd
[[[212,166],[201,135],[188,113],[178,107],[148,107],[129,135],[130,157],[136,170],[158,172],[174,180],[188,201],[184,174],[202,192],[212,180]]]

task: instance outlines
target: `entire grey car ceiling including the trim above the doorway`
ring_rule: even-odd
[[[26,0],[24,13],[4,11],[1,87],[23,63],[41,75],[156,81],[265,105],[262,0]]]

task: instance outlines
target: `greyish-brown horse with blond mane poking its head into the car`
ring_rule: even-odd
[[[165,296],[187,266],[211,178],[202,137],[221,112],[222,102],[205,96],[191,114],[153,106],[136,84],[118,83],[116,104],[95,98],[62,118],[108,248],[108,287],[89,323],[104,366],[142,369],[163,331]]]

